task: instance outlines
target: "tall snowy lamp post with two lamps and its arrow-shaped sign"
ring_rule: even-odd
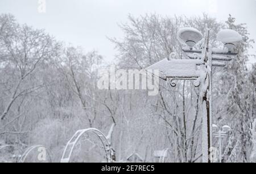
[[[195,80],[196,87],[201,85],[201,113],[203,118],[202,152],[203,162],[210,163],[210,147],[212,144],[212,67],[225,67],[222,61],[230,61],[228,56],[236,56],[232,50],[242,40],[240,34],[233,30],[222,30],[217,34],[217,39],[224,43],[228,51],[219,51],[209,47],[209,30],[205,34],[202,49],[193,47],[203,39],[203,35],[195,28],[181,28],[177,32],[177,39],[189,49],[183,49],[192,60],[164,59],[146,68],[159,70],[159,78],[169,81],[171,86],[176,86],[174,80]],[[216,51],[217,50],[217,51]],[[173,54],[172,54],[173,57]],[[200,70],[197,69],[200,67]],[[151,71],[152,72],[152,71]]]

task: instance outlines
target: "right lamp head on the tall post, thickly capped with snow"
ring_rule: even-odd
[[[218,32],[217,40],[224,43],[225,47],[228,48],[229,51],[232,51],[232,49],[236,47],[237,43],[242,41],[242,36],[237,31],[225,29]]]

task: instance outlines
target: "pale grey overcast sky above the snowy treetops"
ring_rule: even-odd
[[[57,39],[81,45],[86,51],[95,49],[109,61],[115,50],[106,36],[122,38],[117,24],[127,22],[127,14],[192,16],[204,12],[220,21],[232,14],[238,23],[247,23],[256,40],[255,0],[46,0],[46,13],[38,13],[38,0],[0,0],[0,13],[14,14],[18,22],[45,28]],[[256,54],[255,50],[250,52]]]

